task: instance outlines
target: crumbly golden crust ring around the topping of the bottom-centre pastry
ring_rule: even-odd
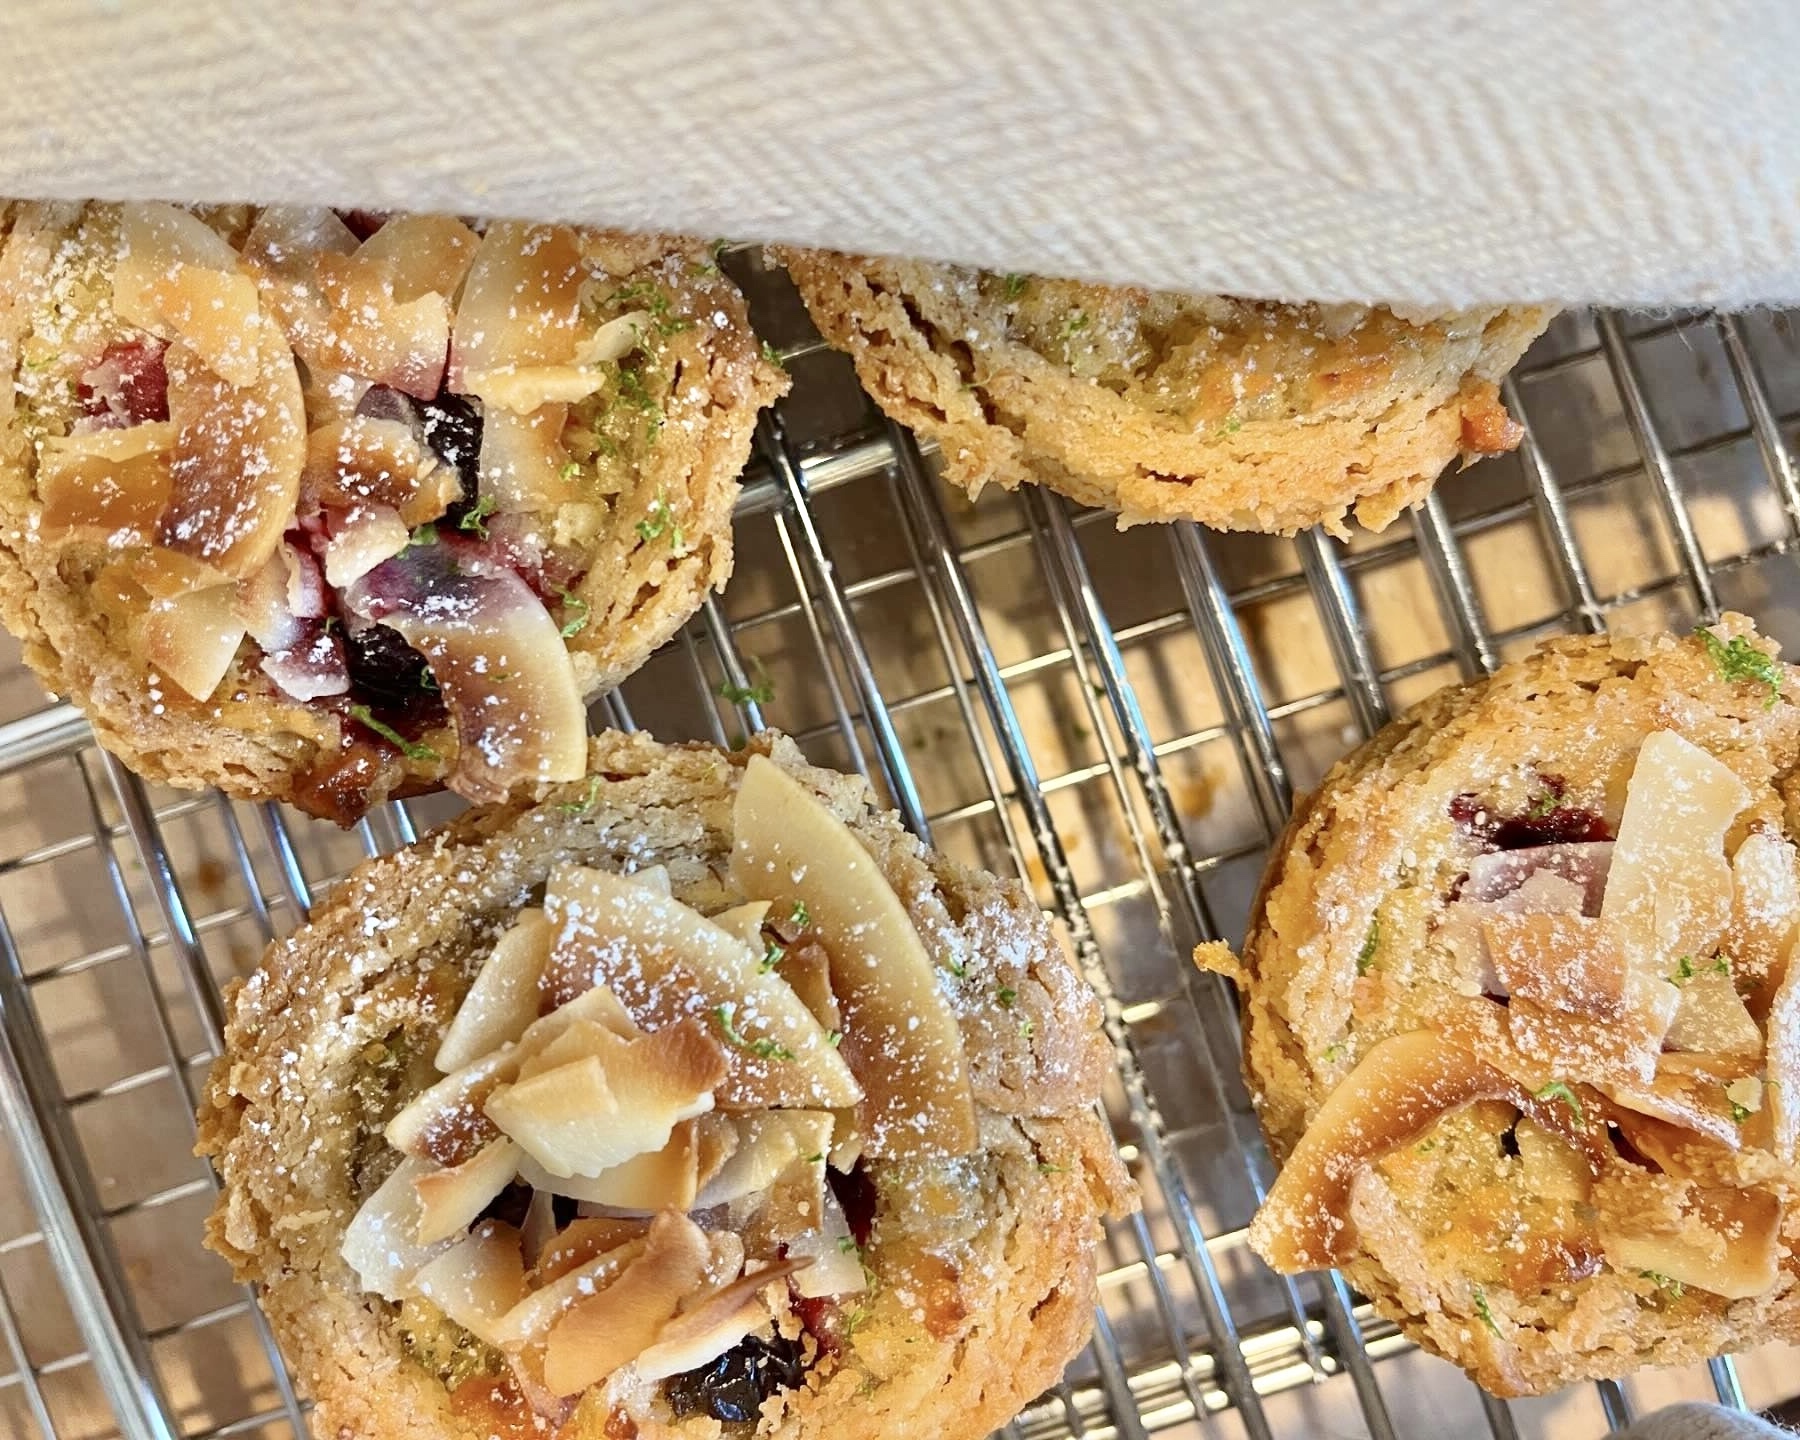
[[[778,1391],[758,1433],[873,1440],[907,1417],[920,1433],[985,1435],[1084,1341],[1098,1217],[1136,1202],[1093,1114],[1107,1066],[1098,1006],[1019,886],[923,850],[871,808],[860,781],[805,765],[781,736],[752,740],[749,754],[772,756],[855,830],[927,950],[961,972],[947,994],[981,1127],[970,1157],[869,1165],[878,1202],[866,1264],[895,1280],[929,1247],[931,1323],[914,1318],[920,1291],[882,1283],[837,1368]],[[322,1433],[486,1440],[481,1417],[409,1359],[394,1307],[364,1296],[338,1255],[347,1220],[392,1168],[382,1127],[418,1087],[407,1057],[430,1055],[495,932],[558,860],[662,864],[679,898],[733,904],[722,875],[745,760],[598,736],[592,785],[472,812],[360,866],[232,995],[200,1109],[200,1152],[223,1181],[207,1242],[263,1287]],[[371,1067],[371,1057],[387,1062]],[[610,1417],[623,1418],[608,1427]],[[673,1420],[653,1386],[616,1384],[589,1393],[560,1433],[655,1440],[720,1427]]]

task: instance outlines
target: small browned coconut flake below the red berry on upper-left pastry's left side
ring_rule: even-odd
[[[169,502],[175,425],[47,436],[38,452],[38,499],[47,535],[148,545]]]

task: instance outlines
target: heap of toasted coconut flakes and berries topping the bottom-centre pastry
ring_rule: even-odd
[[[871,855],[761,756],[733,835],[756,898],[711,914],[662,869],[551,871],[463,995],[441,1078],[387,1123],[400,1163],[344,1237],[409,1334],[464,1337],[455,1363],[432,1346],[439,1373],[499,1375],[547,1422],[614,1381],[661,1386],[675,1417],[756,1420],[842,1355],[844,1310],[880,1283],[868,1161],[977,1143],[938,967]],[[792,965],[814,950],[828,963]]]

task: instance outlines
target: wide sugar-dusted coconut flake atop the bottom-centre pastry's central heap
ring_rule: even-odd
[[[729,1017],[725,1107],[848,1105],[860,1087],[824,1030],[761,956],[688,905],[630,877],[562,864],[544,909],[556,927],[549,997],[608,985],[646,1028]],[[731,1006],[724,1010],[724,1006]]]

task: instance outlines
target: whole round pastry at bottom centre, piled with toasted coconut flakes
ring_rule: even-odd
[[[779,736],[355,871],[232,999],[209,1242],[340,1436],[981,1436],[1136,1199],[1030,896]]]

